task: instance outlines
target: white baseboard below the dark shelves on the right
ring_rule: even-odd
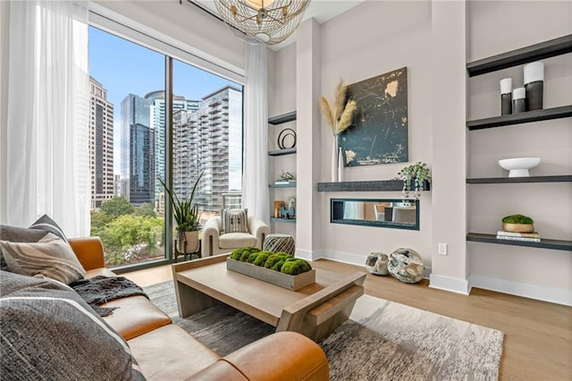
[[[469,292],[473,287],[508,293],[538,301],[550,301],[572,307],[572,290],[545,287],[536,284],[508,281],[484,275],[471,274],[468,277]]]

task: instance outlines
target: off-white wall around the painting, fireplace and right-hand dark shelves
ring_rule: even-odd
[[[467,177],[506,175],[496,160],[507,154],[543,157],[533,174],[572,173],[570,120],[467,132],[467,118],[500,114],[498,80],[509,75],[517,78],[521,69],[467,79],[465,64],[571,32],[569,2],[366,1],[325,22],[320,93],[332,97],[340,78],[352,83],[407,66],[409,159],[432,166],[435,183],[433,191],[421,198],[419,232],[329,223],[330,198],[399,199],[400,192],[320,193],[320,210],[313,216],[322,226],[319,254],[363,264],[370,251],[391,252],[407,246],[433,267],[432,286],[467,292],[473,284],[566,303],[572,289],[569,252],[467,243],[465,234],[496,232],[498,215],[526,210],[539,221],[543,235],[572,240],[571,185],[514,188],[465,182]],[[295,101],[290,83],[284,80],[293,75],[291,63],[299,60],[293,55],[290,46],[273,56],[275,93],[270,107],[276,114]],[[572,104],[570,60],[570,55],[545,60],[546,107]],[[317,99],[313,102],[318,109]],[[329,182],[331,132],[324,121],[304,128],[320,129],[321,143],[313,147],[320,152],[318,181]],[[391,179],[402,166],[346,168],[345,177],[347,181]],[[450,244],[449,256],[436,255],[439,242]],[[539,267],[545,270],[537,271]],[[433,279],[433,275],[438,276]],[[547,296],[551,292],[556,299]]]

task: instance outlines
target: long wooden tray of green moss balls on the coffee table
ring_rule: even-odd
[[[315,283],[315,269],[306,260],[284,252],[240,248],[226,259],[226,268],[293,291]]]

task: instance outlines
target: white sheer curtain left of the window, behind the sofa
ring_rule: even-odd
[[[6,224],[89,233],[88,3],[10,4]]]

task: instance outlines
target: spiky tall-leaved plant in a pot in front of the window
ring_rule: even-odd
[[[163,180],[159,182],[164,187],[169,199],[172,202],[172,216],[177,223],[177,241],[176,249],[180,253],[193,253],[198,251],[198,232],[200,231],[200,220],[198,215],[198,203],[194,201],[195,191],[197,190],[198,182],[204,173],[201,173],[195,184],[193,190],[190,192],[189,199],[180,200],[177,194],[170,190]]]

